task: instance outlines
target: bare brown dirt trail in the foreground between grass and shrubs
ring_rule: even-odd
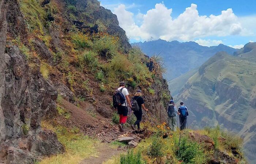
[[[99,154],[98,157],[90,157],[88,159],[84,159],[79,164],[102,164],[103,161],[110,159],[112,156],[119,154],[124,151],[122,148],[111,148],[109,144],[102,143],[97,151]]]

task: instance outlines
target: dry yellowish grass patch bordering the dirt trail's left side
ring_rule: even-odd
[[[63,126],[53,126],[42,121],[42,128],[50,129],[57,134],[58,140],[65,147],[65,153],[46,157],[39,164],[78,164],[90,156],[97,156],[95,144],[99,141],[84,136],[78,128],[67,129]]]

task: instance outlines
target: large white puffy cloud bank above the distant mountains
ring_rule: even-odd
[[[240,35],[245,29],[231,8],[224,10],[220,15],[200,16],[197,5],[191,4],[177,18],[172,18],[172,9],[163,3],[155,4],[155,8],[146,14],[134,16],[127,11],[125,5],[120,4],[114,8],[120,26],[127,32],[129,38],[139,40],[189,41],[194,38],[206,36]],[[139,17],[141,24],[136,24],[134,18]],[[219,40],[198,40],[201,44],[211,45]],[[203,43],[204,42],[204,43]]]

